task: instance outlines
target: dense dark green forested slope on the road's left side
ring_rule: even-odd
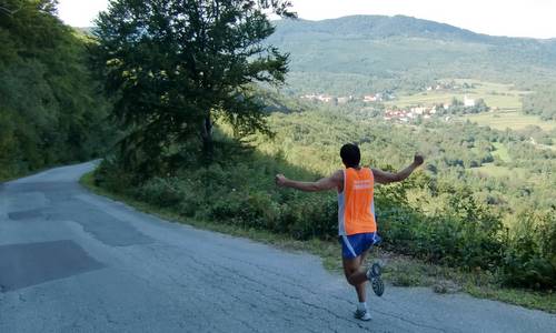
[[[56,1],[0,1],[0,180],[106,148],[106,99]]]

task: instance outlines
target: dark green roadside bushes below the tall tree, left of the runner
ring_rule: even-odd
[[[217,142],[216,153],[236,144]],[[96,184],[157,206],[173,208],[183,216],[289,233],[299,240],[330,239],[337,232],[334,195],[276,188],[274,175],[284,170],[301,178],[317,176],[288,167],[280,158],[248,151],[209,167],[183,168],[178,176],[155,176],[140,183],[120,165],[115,159],[105,160],[95,173]]]

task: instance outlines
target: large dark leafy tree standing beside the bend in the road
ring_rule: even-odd
[[[216,119],[236,133],[266,131],[250,83],[280,84],[288,54],[265,43],[268,14],[294,17],[282,0],[112,0],[93,31],[126,160],[148,163],[172,143],[198,139],[212,153]]]

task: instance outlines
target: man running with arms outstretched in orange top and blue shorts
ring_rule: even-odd
[[[276,183],[279,186],[306,192],[334,189],[338,191],[338,233],[344,273],[348,283],[355,286],[359,299],[355,317],[368,321],[370,313],[366,302],[365,283],[370,281],[374,292],[379,296],[384,292],[380,268],[377,264],[366,272],[360,270],[370,248],[379,241],[375,220],[375,183],[388,184],[405,180],[423,164],[424,158],[416,154],[409,167],[397,173],[390,173],[361,168],[359,165],[361,153],[356,144],[344,144],[340,157],[346,169],[338,170],[328,178],[316,182],[299,182],[289,180],[284,174],[277,174]]]

